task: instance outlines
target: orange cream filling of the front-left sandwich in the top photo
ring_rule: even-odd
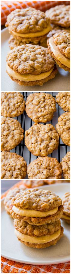
[[[42,72],[38,75],[34,74],[21,74],[19,72],[14,72],[13,69],[11,69],[8,64],[6,65],[6,70],[9,75],[11,75],[14,79],[20,80],[20,81],[25,81],[25,82],[31,82],[31,81],[38,81],[42,80],[44,78],[47,78],[51,72],[53,71],[53,68],[48,71],[48,72]]]

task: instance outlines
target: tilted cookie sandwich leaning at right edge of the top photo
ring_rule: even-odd
[[[70,72],[70,34],[58,32],[47,40],[48,51],[61,69]]]

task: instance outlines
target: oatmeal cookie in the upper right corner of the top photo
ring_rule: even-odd
[[[70,26],[70,5],[59,5],[46,11],[45,14],[50,17],[51,23],[64,28]]]

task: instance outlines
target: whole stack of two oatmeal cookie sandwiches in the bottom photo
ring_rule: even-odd
[[[29,247],[46,248],[63,236],[62,201],[51,191],[22,191],[11,199],[9,210],[14,218],[15,235]]]

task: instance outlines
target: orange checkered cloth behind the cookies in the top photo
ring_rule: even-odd
[[[50,8],[63,4],[70,5],[70,1],[1,1],[1,25],[5,25],[8,14],[16,8],[32,7],[45,12]]]

